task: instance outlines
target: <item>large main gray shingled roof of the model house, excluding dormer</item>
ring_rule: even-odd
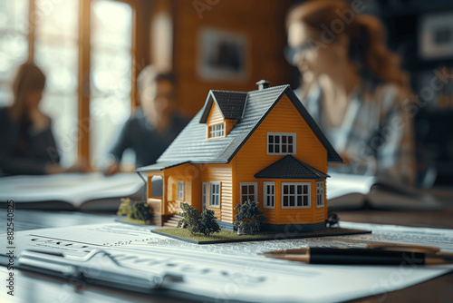
[[[220,95],[219,93],[221,92],[216,91],[214,94]],[[206,140],[206,124],[200,122],[204,112],[207,112],[207,105],[205,105],[160,156],[158,163],[181,163],[184,161],[192,163],[228,163],[265,119],[267,113],[274,108],[284,93],[288,95],[294,106],[304,117],[304,120],[312,128],[314,134],[323,143],[327,150],[328,161],[342,162],[342,158],[335,152],[330,142],[327,141],[321,129],[305,110],[304,105],[296,97],[289,85],[274,86],[249,93],[233,93],[237,94],[237,96],[246,94],[244,112],[242,119],[236,123],[236,126],[225,138]],[[209,100],[209,97],[207,99]],[[209,102],[208,100],[207,103]]]

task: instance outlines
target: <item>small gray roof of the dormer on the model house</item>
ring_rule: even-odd
[[[207,122],[207,116],[211,111],[213,102],[217,103],[224,119],[241,119],[244,105],[246,104],[246,97],[247,93],[242,92],[210,91],[207,94],[207,102],[202,110],[203,114],[199,122]]]

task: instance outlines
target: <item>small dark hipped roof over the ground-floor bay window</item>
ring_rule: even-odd
[[[255,178],[269,179],[325,179],[327,177],[329,175],[295,159],[292,155],[284,156],[255,174]]]

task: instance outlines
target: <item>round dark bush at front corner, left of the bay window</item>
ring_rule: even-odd
[[[261,225],[267,220],[264,211],[259,210],[255,201],[246,200],[243,204],[237,204],[235,210],[239,210],[235,216],[235,228],[246,235],[253,235],[261,230]]]

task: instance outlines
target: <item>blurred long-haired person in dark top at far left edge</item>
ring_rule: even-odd
[[[32,63],[22,64],[13,83],[14,102],[0,108],[0,174],[40,175],[88,171],[82,162],[60,165],[51,119],[39,109],[45,76]]]

